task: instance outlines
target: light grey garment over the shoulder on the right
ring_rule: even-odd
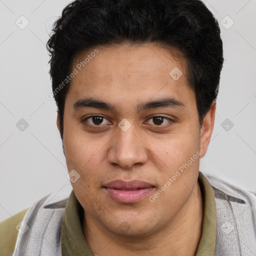
[[[256,253],[256,192],[219,177],[205,176],[214,191],[216,250],[220,255],[226,249],[230,252],[228,255],[251,255],[252,251]]]

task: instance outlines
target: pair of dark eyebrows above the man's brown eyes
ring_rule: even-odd
[[[185,104],[181,102],[180,100],[177,100],[175,98],[159,98],[156,100],[147,101],[144,103],[139,103],[136,105],[136,111],[142,112],[148,109],[153,109],[157,107],[173,107],[173,108],[183,108]],[[86,107],[93,107],[93,108],[99,108],[99,109],[105,109],[105,110],[116,110],[115,105],[111,105],[109,102],[95,99],[95,98],[83,98],[77,100],[73,104],[74,109],[80,109],[80,108],[86,108]]]

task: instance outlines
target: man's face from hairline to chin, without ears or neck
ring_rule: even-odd
[[[197,185],[195,95],[182,63],[167,49],[153,44],[96,48],[81,70],[77,64],[93,49],[74,60],[78,73],[65,99],[66,164],[80,175],[71,184],[87,222],[115,234],[150,234],[180,216]],[[177,68],[183,73],[179,78]],[[86,107],[88,98],[113,107]],[[172,103],[141,107],[167,98]],[[115,180],[123,182],[109,184]]]

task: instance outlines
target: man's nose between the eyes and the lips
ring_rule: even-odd
[[[134,125],[126,131],[117,127],[115,132],[107,154],[108,162],[125,169],[134,164],[144,164],[148,158],[147,146],[143,138],[135,132]]]

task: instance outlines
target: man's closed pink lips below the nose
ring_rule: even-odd
[[[154,186],[141,180],[114,180],[103,186],[106,193],[115,201],[135,203],[147,197]]]

